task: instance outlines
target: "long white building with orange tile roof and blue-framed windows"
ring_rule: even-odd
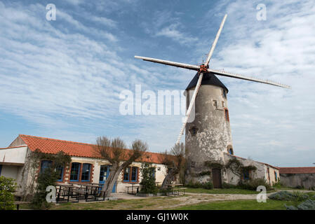
[[[41,160],[38,168],[32,168],[34,166],[30,165],[30,161],[36,150],[48,154],[63,151],[71,156],[71,164],[60,167],[59,183],[104,184],[112,169],[110,162],[100,156],[93,144],[19,134],[10,146],[0,148],[0,175],[15,179],[22,193],[28,193],[29,186],[34,186],[32,180],[51,163],[48,160]],[[127,159],[129,149],[124,150],[126,152],[123,156]],[[141,158],[135,160],[130,167],[119,174],[114,185],[114,192],[126,192],[126,187],[130,186],[130,183],[140,183],[143,162],[152,163],[156,181],[161,184],[167,174],[167,167],[162,164],[162,160],[161,153],[145,152]]]

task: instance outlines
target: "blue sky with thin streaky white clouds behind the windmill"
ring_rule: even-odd
[[[49,3],[55,20],[46,19]],[[266,20],[257,20],[260,3]],[[185,90],[195,72],[134,55],[200,64],[225,13],[210,68],[292,87],[218,76],[229,89],[235,155],[314,166],[313,0],[0,0],[0,148],[28,134],[91,144],[105,135],[170,149],[182,116],[123,116],[119,95],[135,85]]]

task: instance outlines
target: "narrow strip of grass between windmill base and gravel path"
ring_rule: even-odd
[[[208,194],[235,194],[235,195],[257,195],[255,190],[244,190],[237,188],[228,189],[203,189],[203,188],[187,188],[187,193],[208,193]],[[275,190],[269,190],[267,193],[275,192]]]

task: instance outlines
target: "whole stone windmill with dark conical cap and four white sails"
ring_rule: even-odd
[[[259,78],[246,77],[239,74],[229,73],[227,71],[219,71],[209,68],[209,62],[213,55],[213,50],[215,49],[215,45],[217,44],[217,40],[220,36],[226,18],[227,15],[224,15],[220,29],[217,31],[217,35],[215,36],[215,41],[208,53],[206,62],[200,66],[170,62],[150,57],[135,56],[135,58],[143,59],[149,62],[167,64],[170,66],[177,66],[197,71],[196,76],[194,76],[186,89],[194,90],[194,92],[192,96],[189,96],[189,92],[187,92],[186,99],[187,105],[189,106],[186,112],[185,122],[182,124],[182,128],[176,142],[176,144],[180,143],[182,134],[186,129],[185,146],[187,148],[187,181],[208,181],[207,179],[202,179],[195,175],[206,170],[204,163],[206,161],[212,161],[224,164],[224,153],[234,153],[231,128],[229,125],[229,111],[227,108],[228,90],[215,75],[290,88],[288,85],[275,83],[270,80],[261,80]],[[193,106],[195,106],[194,121],[192,123],[187,123]],[[224,174],[222,174],[220,170],[218,174],[213,172],[213,181],[214,175],[219,176],[218,178],[220,181],[221,176],[225,179]]]

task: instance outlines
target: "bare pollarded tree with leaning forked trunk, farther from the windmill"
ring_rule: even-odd
[[[147,144],[138,139],[133,141],[130,149],[126,149],[126,144],[119,138],[110,140],[107,137],[98,137],[96,139],[95,151],[112,164],[109,176],[102,188],[102,196],[105,194],[105,197],[110,197],[121,171],[141,158],[147,148]]]

